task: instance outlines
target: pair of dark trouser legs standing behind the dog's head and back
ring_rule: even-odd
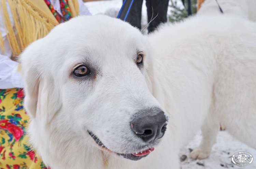
[[[141,30],[141,8],[143,0],[133,0],[130,6],[131,2],[132,0],[124,0],[123,7],[118,16],[120,19],[129,22]],[[160,23],[167,22],[168,3],[169,0],[146,0],[147,21],[149,23],[147,27],[148,33],[153,32]],[[127,15],[129,7],[130,11]]]

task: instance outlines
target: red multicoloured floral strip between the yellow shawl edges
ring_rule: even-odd
[[[54,9],[50,0],[44,0],[44,1],[59,23],[68,21],[71,19],[71,11],[68,5],[68,0],[59,0],[60,9],[63,17]]]

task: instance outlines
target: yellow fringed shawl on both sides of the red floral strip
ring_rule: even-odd
[[[0,1],[0,11],[14,57],[18,56],[31,42],[46,36],[58,24],[44,0]],[[11,25],[6,3],[13,15],[14,26]],[[72,17],[77,16],[79,14],[77,0],[69,0],[68,3]],[[0,47],[3,49],[2,36],[0,36]]]

